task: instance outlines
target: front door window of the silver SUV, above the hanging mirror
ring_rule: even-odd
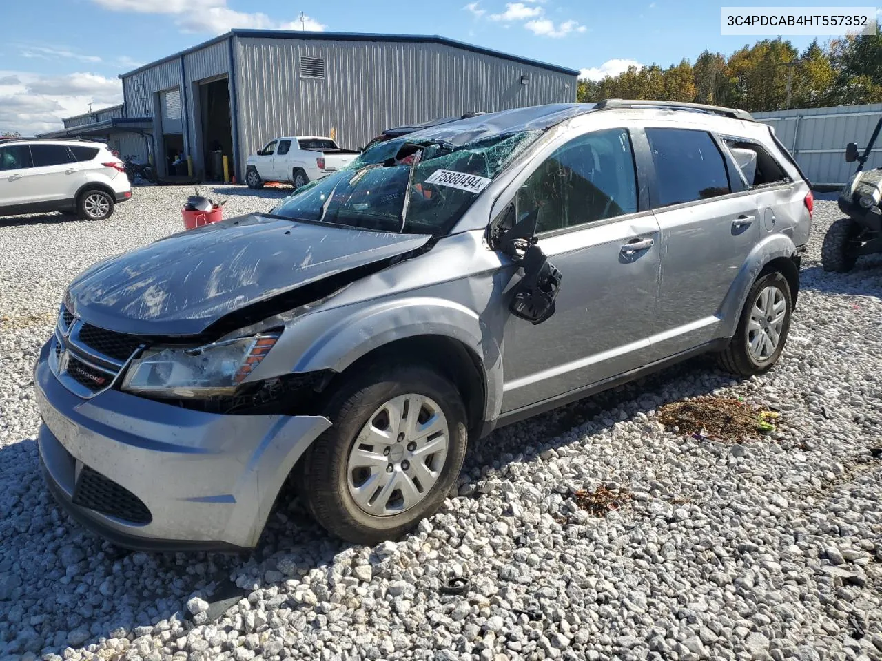
[[[518,191],[519,218],[534,209],[539,210],[539,232],[636,212],[628,131],[598,130],[558,147]]]

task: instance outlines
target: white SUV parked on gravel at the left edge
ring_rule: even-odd
[[[130,197],[123,161],[103,143],[0,140],[0,216],[77,212],[84,220],[102,220]]]

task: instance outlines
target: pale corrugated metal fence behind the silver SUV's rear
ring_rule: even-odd
[[[841,185],[855,172],[845,161],[845,145],[856,142],[861,151],[882,117],[882,103],[833,108],[803,108],[753,113],[774,127],[775,135],[796,158],[815,185]],[[882,166],[882,143],[877,141],[866,167]]]

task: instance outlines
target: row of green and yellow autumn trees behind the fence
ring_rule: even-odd
[[[579,80],[579,101],[693,101],[750,112],[882,102],[882,26],[876,34],[818,40],[800,53],[789,41],[764,39],[729,57],[705,50],[684,59],[629,67],[602,80]]]

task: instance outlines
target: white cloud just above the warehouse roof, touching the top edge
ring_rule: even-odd
[[[256,29],[300,30],[320,32],[324,24],[310,16],[300,19],[279,21],[261,11],[235,11],[227,6],[227,0],[92,0],[93,3],[111,11],[136,11],[138,13],[165,14],[175,17],[179,30],[187,33],[228,32],[234,27]]]

